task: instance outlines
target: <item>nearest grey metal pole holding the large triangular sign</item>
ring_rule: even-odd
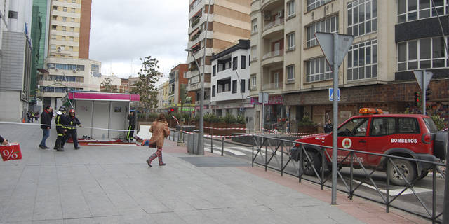
[[[333,101],[333,130],[332,130],[332,203],[337,204],[337,126],[338,126],[338,64],[337,58],[337,38],[334,34],[334,101]]]

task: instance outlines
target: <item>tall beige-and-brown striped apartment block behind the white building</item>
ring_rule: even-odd
[[[204,105],[206,112],[210,112],[212,71],[210,58],[213,52],[229,48],[239,39],[250,37],[250,1],[189,0],[188,48],[192,49],[193,55],[189,52],[187,56],[187,63],[189,64],[187,90],[195,92],[196,99],[199,99],[201,88],[199,73],[203,73],[204,59]],[[194,58],[198,62],[199,68],[196,67]],[[198,111],[199,100],[195,102],[195,105],[196,111]]]

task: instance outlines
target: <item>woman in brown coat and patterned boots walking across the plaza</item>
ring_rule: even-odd
[[[147,164],[152,167],[152,161],[156,158],[159,159],[159,166],[165,166],[166,164],[162,162],[162,146],[163,139],[170,135],[170,130],[168,129],[168,123],[166,117],[163,114],[159,114],[154,121],[152,127],[149,128],[149,132],[152,132],[152,138],[149,139],[149,146],[156,145],[157,151],[153,153],[148,160]]]

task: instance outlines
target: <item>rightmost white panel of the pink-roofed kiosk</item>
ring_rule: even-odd
[[[111,102],[111,118],[109,128],[115,130],[128,129],[128,102]],[[109,139],[125,138],[126,132],[109,131]]]

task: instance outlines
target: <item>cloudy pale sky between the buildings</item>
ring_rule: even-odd
[[[168,76],[187,59],[188,13],[188,0],[94,0],[90,57],[102,74],[128,78],[151,55]]]

